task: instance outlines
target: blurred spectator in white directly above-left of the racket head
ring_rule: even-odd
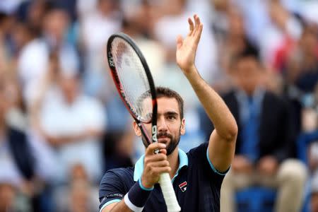
[[[95,11],[81,17],[84,89],[89,95],[98,98],[110,95],[110,89],[105,88],[105,78],[109,76],[105,75],[105,45],[108,37],[120,30],[122,17],[118,9],[117,1],[98,0]]]

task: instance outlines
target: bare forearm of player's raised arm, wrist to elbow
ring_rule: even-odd
[[[201,78],[195,67],[191,71],[184,71],[184,73],[187,73],[186,77],[209,119],[213,122],[218,135],[223,139],[232,140],[237,134],[237,124],[228,106],[225,105],[220,95]]]

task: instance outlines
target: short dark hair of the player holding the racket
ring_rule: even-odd
[[[175,100],[177,100],[178,102],[178,106],[179,106],[179,112],[180,112],[180,119],[183,119],[184,117],[184,112],[183,112],[183,99],[182,97],[179,95],[179,93],[177,93],[175,90],[172,90],[170,88],[166,88],[166,87],[156,87],[155,88],[155,92],[157,94],[157,98],[174,98]],[[139,105],[139,107],[141,107],[141,104],[143,102],[143,100],[145,100],[146,98],[150,97],[151,93],[150,90],[146,91],[145,93],[143,93],[139,99],[137,100],[137,104]]]

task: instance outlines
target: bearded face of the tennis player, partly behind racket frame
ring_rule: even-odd
[[[150,99],[143,103],[145,107],[151,108]],[[175,98],[158,98],[158,142],[165,143],[167,146],[167,155],[170,155],[177,147],[180,136],[185,133],[185,120],[180,118],[179,105]],[[151,124],[145,124],[148,135],[151,135]],[[137,136],[141,136],[141,131],[136,122],[134,130]],[[148,143],[143,138],[143,144],[147,147]]]

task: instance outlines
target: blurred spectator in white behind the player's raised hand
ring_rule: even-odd
[[[166,2],[166,4],[164,4]],[[169,7],[165,5],[169,4]],[[172,0],[161,3],[163,13],[158,22],[155,23],[155,37],[163,44],[166,49],[167,62],[175,61],[175,39],[177,35],[187,35],[187,29],[182,28],[184,19],[191,16],[191,13],[186,11],[187,1]],[[159,6],[160,8],[160,6]],[[202,18],[204,25],[208,26],[206,20]],[[163,30],[163,28],[165,30]],[[214,41],[211,29],[206,28],[201,35],[201,43],[196,54],[196,65],[201,71],[201,76],[208,83],[213,83],[215,76],[218,76],[216,69],[216,43]]]

